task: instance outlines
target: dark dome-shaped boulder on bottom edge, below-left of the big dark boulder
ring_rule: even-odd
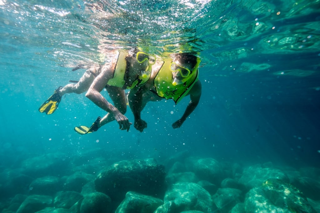
[[[94,192],[84,197],[80,213],[109,213],[111,209],[110,197],[100,192]]]

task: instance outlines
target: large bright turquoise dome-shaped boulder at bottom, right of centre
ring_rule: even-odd
[[[164,206],[168,202],[174,202],[174,205],[170,205],[170,212],[198,210],[207,213],[215,209],[211,195],[195,183],[177,183],[170,186],[164,196]],[[160,206],[157,212],[161,212],[161,208],[163,206]]]

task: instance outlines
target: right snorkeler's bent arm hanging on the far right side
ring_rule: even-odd
[[[185,112],[183,113],[182,117],[177,120],[176,122],[174,122],[172,124],[172,127],[175,128],[179,128],[180,126],[182,126],[183,122],[189,117],[189,115],[193,112],[193,110],[196,109],[199,101],[200,101],[200,97],[201,97],[201,91],[202,91],[202,86],[201,86],[201,82],[198,80],[193,87],[191,88],[189,94],[190,94],[190,102],[185,110]]]

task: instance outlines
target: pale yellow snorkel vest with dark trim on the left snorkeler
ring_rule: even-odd
[[[127,67],[127,61],[125,60],[125,57],[128,55],[128,52],[126,51],[119,51],[118,52],[118,57],[115,65],[115,69],[113,71],[113,78],[108,81],[108,85],[111,86],[116,86],[116,87],[123,87],[125,84],[124,80],[124,75],[126,72],[126,67]],[[151,68],[151,66],[149,65]],[[138,84],[144,84],[147,82],[150,78],[150,74],[146,77],[143,78],[142,76],[138,76],[137,79],[132,83],[131,87],[127,87],[127,89],[132,89]]]

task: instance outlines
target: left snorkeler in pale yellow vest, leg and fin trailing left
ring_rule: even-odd
[[[39,111],[50,115],[57,109],[64,94],[81,94],[87,91],[85,96],[108,112],[106,123],[116,120],[119,129],[129,131],[131,123],[124,116],[127,108],[124,89],[146,83],[155,61],[155,56],[138,51],[138,49],[116,51],[111,62],[103,66],[90,67],[76,84],[57,88],[54,94],[41,105]],[[105,87],[114,105],[100,94]],[[81,131],[86,132],[87,130],[82,129]]]

